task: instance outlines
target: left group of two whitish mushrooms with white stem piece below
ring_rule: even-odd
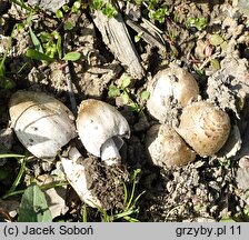
[[[10,99],[10,119],[19,141],[37,158],[53,160],[63,146],[79,133],[86,150],[107,164],[120,164],[122,138],[130,137],[130,128],[112,106],[93,99],[79,107],[77,124],[72,112],[59,100],[43,92],[17,91]],[[76,128],[77,126],[77,128]],[[91,207],[101,206],[88,189],[81,154],[71,148],[61,156],[64,174],[80,199]]]

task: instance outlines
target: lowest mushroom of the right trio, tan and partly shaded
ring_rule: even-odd
[[[196,153],[167,124],[155,124],[148,130],[146,147],[151,162],[160,167],[185,166],[196,159]]]

